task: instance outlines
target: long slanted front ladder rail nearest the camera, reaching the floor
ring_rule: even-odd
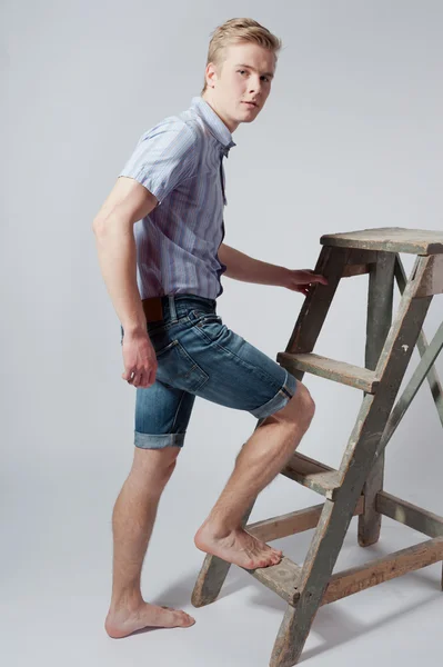
[[[407,285],[402,296],[397,317],[390,329],[377,365],[380,386],[375,396],[366,395],[363,399],[340,467],[342,486],[338,490],[335,501],[328,499],[324,502],[302,567],[300,598],[295,606],[288,606],[272,653],[272,667],[290,667],[298,663],[328,587],[359,496],[373,465],[376,446],[431,303],[432,297],[414,299],[427,260],[426,257],[417,259],[415,281]]]

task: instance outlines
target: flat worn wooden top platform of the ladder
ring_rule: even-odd
[[[443,253],[443,231],[406,229],[404,227],[377,227],[321,237],[323,246],[410,252],[412,255]]]

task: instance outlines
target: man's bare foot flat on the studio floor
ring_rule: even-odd
[[[188,628],[194,623],[195,619],[184,611],[141,603],[135,609],[110,610],[104,628],[110,637],[121,639],[145,627]]]

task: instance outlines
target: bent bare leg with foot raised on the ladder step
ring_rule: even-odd
[[[242,518],[291,458],[313,415],[314,402],[306,387],[299,382],[285,407],[264,419],[241,449],[225,488],[195,535],[199,549],[248,569],[281,560],[281,551],[242,528]]]

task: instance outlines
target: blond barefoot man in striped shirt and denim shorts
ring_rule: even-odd
[[[101,270],[122,325],[122,378],[137,388],[134,460],[112,517],[113,585],[105,619],[111,637],[194,623],[184,611],[145,603],[140,578],[195,396],[261,420],[197,532],[197,547],[249,569],[282,558],[241,521],[298,447],[314,404],[302,382],[215,312],[222,272],[302,293],[326,282],[313,271],[261,262],[222,243],[222,160],[235,146],[232,132],[263,108],[280,47],[252,19],[219,27],[202,96],[142,136],[94,220]]]

